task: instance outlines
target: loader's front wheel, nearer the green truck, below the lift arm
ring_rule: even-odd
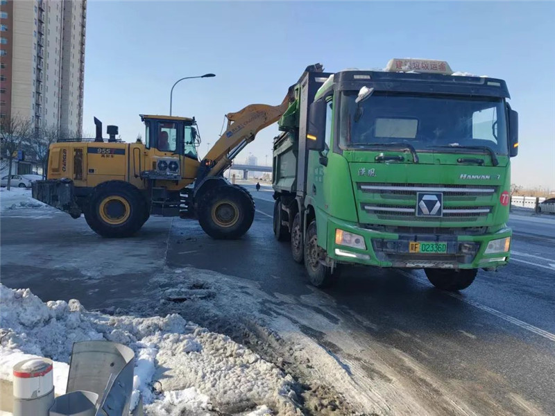
[[[213,239],[239,239],[253,224],[255,203],[246,189],[224,185],[202,196],[197,216],[200,227]]]

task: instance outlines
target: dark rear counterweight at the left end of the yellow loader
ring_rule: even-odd
[[[37,180],[32,187],[35,200],[67,212],[73,218],[81,216],[82,211],[77,205],[74,183],[71,180]]]

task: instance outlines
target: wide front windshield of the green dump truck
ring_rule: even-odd
[[[453,146],[452,151],[468,152],[464,146],[487,146],[507,154],[502,98],[375,92],[357,104],[358,91],[342,94],[343,149],[404,142],[416,150]]]

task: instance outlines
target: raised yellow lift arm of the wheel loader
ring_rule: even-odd
[[[255,139],[260,130],[278,121],[289,107],[291,91],[289,89],[280,105],[250,104],[243,110],[226,114],[227,130],[212,146],[203,161],[203,166],[209,166],[205,176],[223,173],[231,166],[234,157]]]

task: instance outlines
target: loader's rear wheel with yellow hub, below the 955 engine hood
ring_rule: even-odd
[[[120,181],[99,184],[85,205],[85,220],[103,237],[122,238],[135,234],[144,224],[146,200],[139,189]]]

